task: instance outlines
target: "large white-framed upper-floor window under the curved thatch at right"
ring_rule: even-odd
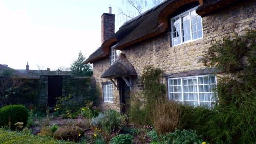
[[[202,18],[190,9],[170,19],[172,46],[203,38]]]

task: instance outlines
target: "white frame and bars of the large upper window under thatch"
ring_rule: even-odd
[[[198,6],[197,6],[197,7],[198,7]],[[178,46],[178,45],[181,45],[181,44],[185,44],[185,43],[189,43],[189,42],[192,42],[192,41],[196,41],[196,40],[202,39],[202,38],[204,37],[204,35],[203,35],[203,22],[202,22],[203,19],[202,19],[202,18],[201,18],[202,37],[197,38],[197,39],[193,39],[193,35],[192,35],[192,22],[191,22],[192,17],[191,17],[191,11],[196,10],[197,7],[194,7],[194,8],[192,8],[192,9],[189,9],[189,10],[187,10],[187,11],[185,11],[185,12],[183,12],[183,13],[181,13],[181,14],[175,16],[175,17],[172,17],[172,18],[170,19],[170,23],[171,23],[171,25],[170,25],[170,37],[171,37],[171,41],[172,41],[172,47]],[[190,15],[190,22],[189,22],[189,26],[190,26],[190,40],[187,40],[187,41],[184,41],[184,42],[183,42],[182,16],[185,15],[185,14],[187,14],[187,13],[189,13],[189,15]],[[175,18],[177,18],[177,17],[180,18],[180,23],[179,23],[179,25],[180,25],[180,40],[181,40],[181,43],[174,45],[174,41],[173,41],[173,38],[174,38],[174,37],[173,37],[173,32],[174,32],[174,31],[173,31],[173,24],[174,24],[174,23],[173,23],[173,19],[175,19]]]

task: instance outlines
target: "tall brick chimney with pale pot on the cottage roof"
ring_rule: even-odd
[[[111,38],[115,34],[115,15],[112,14],[112,8],[109,7],[109,13],[103,13],[101,16],[101,43]]]

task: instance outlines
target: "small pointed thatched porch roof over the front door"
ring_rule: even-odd
[[[123,53],[120,53],[116,62],[102,74],[101,78],[128,77],[136,75],[137,73],[133,65],[126,59],[126,56]]]

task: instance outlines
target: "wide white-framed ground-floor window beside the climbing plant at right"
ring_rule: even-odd
[[[168,79],[168,97],[170,100],[193,106],[211,107],[216,102],[216,76],[199,75]]]

